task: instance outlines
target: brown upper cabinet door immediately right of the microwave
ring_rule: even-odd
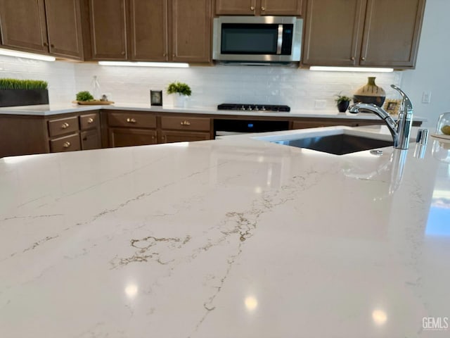
[[[305,15],[304,65],[356,65],[366,0],[309,0]]]

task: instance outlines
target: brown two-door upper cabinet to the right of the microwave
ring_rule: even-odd
[[[308,0],[302,64],[413,68],[424,9],[425,0]]]

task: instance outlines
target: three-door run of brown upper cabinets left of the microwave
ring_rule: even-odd
[[[210,62],[211,0],[89,1],[93,60]]]

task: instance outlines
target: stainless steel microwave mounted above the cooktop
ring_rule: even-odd
[[[217,61],[300,61],[303,20],[288,16],[214,18],[212,58]]]

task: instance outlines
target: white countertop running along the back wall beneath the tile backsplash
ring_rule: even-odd
[[[331,111],[299,111],[291,107],[290,112],[262,112],[262,111],[219,111],[216,107],[188,107],[175,108],[173,106],[153,106],[146,104],[114,104],[104,106],[79,106],[77,104],[46,104],[40,106],[15,106],[0,108],[0,115],[34,115],[34,116],[51,116],[63,113],[74,113],[77,111],[96,111],[98,109],[113,109],[126,111],[153,111],[163,113],[198,113],[198,114],[214,114],[214,115],[238,115],[238,116],[276,116],[287,118],[342,118],[342,119],[360,119],[360,120],[377,120],[378,116],[372,113],[338,113],[335,109]],[[426,121],[426,118],[414,115],[415,121]]]

